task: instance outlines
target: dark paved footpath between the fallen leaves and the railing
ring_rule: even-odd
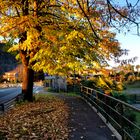
[[[69,140],[117,140],[97,113],[81,97],[65,95],[58,97],[70,108]]]

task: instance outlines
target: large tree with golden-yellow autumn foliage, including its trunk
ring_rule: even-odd
[[[111,23],[136,23],[126,8],[109,0],[0,0],[0,8],[0,34],[19,40],[10,50],[19,51],[22,92],[28,101],[33,97],[33,69],[60,74],[92,67],[93,62],[106,64],[121,52],[109,31]]]

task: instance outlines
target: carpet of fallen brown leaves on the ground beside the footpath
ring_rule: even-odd
[[[68,139],[68,106],[57,97],[40,96],[0,116],[0,140]]]

